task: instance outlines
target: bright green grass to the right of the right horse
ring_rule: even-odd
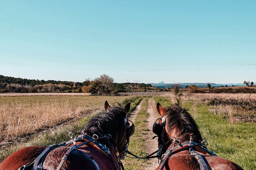
[[[170,106],[167,98],[155,97],[156,103]],[[196,121],[202,137],[208,141],[208,149],[217,156],[232,160],[245,170],[256,169],[256,123],[230,123],[226,117],[212,114],[210,106],[196,100],[181,101],[183,107]]]

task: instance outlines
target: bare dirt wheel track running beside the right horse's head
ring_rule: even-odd
[[[147,119],[147,128],[149,129],[149,131],[147,132],[147,138],[146,143],[148,145],[148,153],[152,153],[158,150],[158,143],[157,143],[157,138],[152,139],[153,136],[155,136],[155,133],[152,132],[152,127],[153,127],[153,123],[155,122],[155,120],[157,120],[160,115],[157,113],[157,109],[156,109],[156,104],[153,101],[153,98],[149,98],[148,99],[148,110],[147,110],[149,117]],[[150,159],[148,161],[149,164],[147,164],[147,167],[145,168],[145,170],[152,170],[152,169],[156,169],[158,167],[158,159],[157,158],[153,158]]]

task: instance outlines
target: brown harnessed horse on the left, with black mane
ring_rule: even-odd
[[[61,144],[30,146],[14,152],[0,170],[121,170],[134,124],[127,119],[130,103],[111,107],[88,120],[82,135]],[[130,123],[132,125],[130,125]]]

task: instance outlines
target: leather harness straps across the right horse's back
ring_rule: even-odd
[[[205,156],[217,156],[217,155],[214,152],[209,151],[208,149],[204,148],[203,147],[204,143],[205,143],[205,141],[202,141],[202,143],[196,143],[194,141],[186,141],[186,142],[184,142],[182,144],[178,144],[178,146],[174,147],[175,146],[175,140],[174,140],[173,148],[168,149],[165,152],[165,154],[163,154],[163,156],[161,157],[161,161],[160,161],[161,167],[159,170],[163,170],[166,162],[168,161],[169,158],[171,158],[171,156],[173,154],[176,154],[180,151],[185,151],[188,149],[189,149],[190,154],[186,154],[186,155],[196,157],[196,159],[200,165],[200,170],[211,170],[211,168],[205,161],[204,157]],[[204,153],[204,155],[201,155],[199,152]]]

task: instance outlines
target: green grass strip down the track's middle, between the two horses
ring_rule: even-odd
[[[148,108],[148,98],[145,98],[144,103],[142,104],[141,111],[136,117],[135,125],[135,132],[134,135],[130,138],[129,143],[129,151],[139,157],[147,156],[147,145],[145,144],[145,135],[147,135],[148,129],[147,122],[145,121],[149,114],[147,113]],[[141,170],[147,164],[147,160],[145,159],[130,159],[125,158],[122,160],[124,164],[124,168],[126,170]]]

